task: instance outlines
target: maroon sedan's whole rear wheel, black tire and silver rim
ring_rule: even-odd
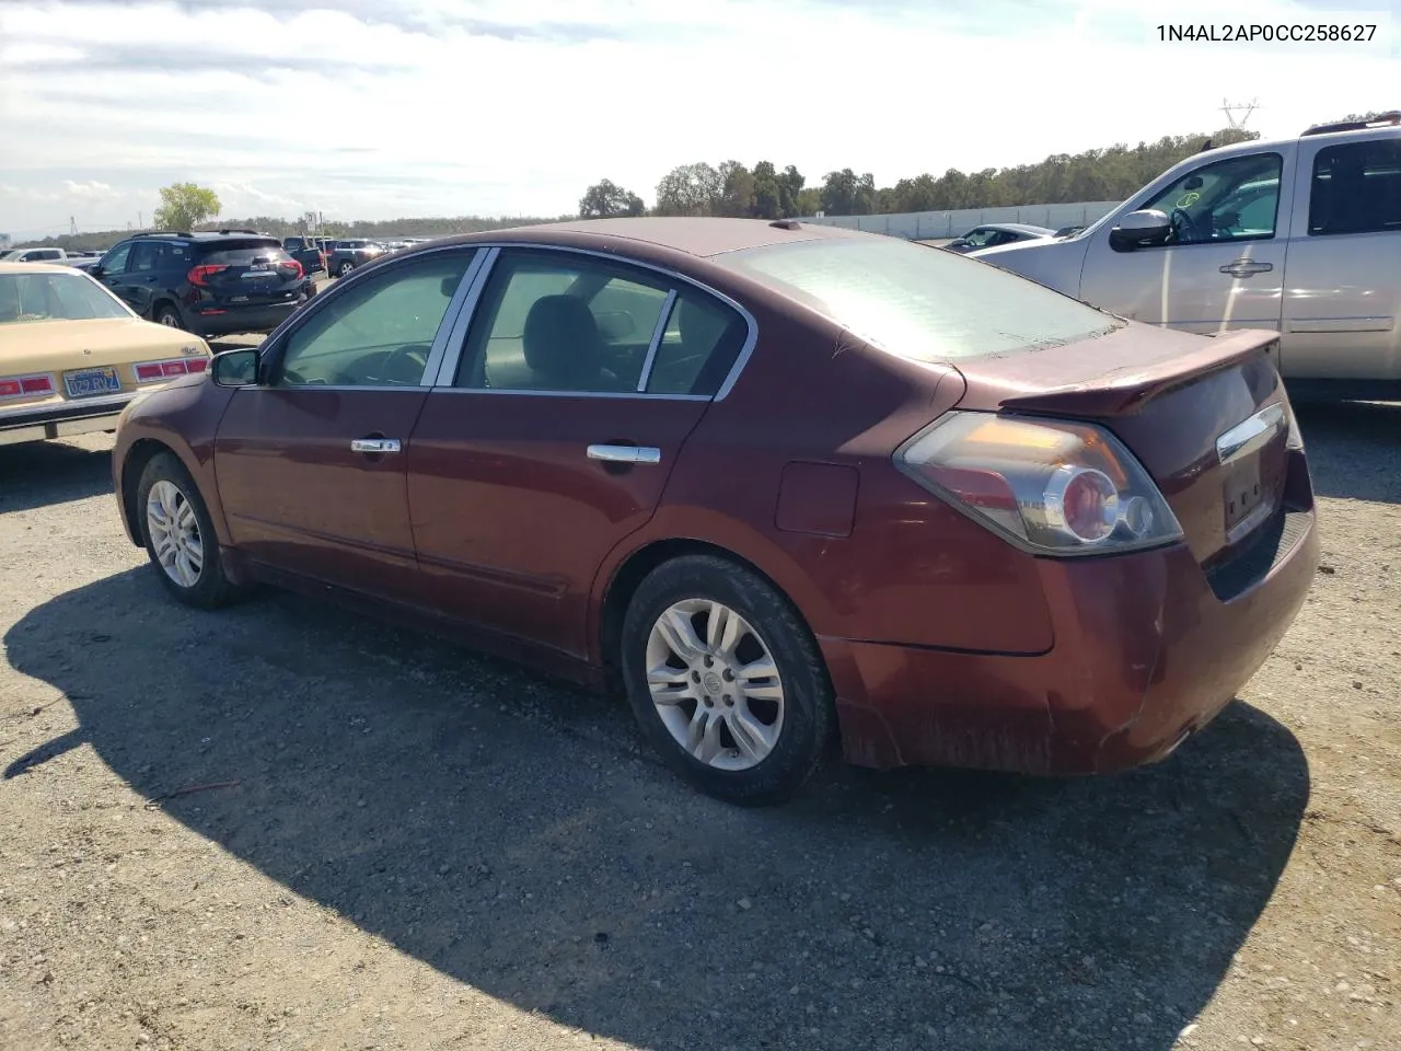
[[[827,667],[789,601],[710,555],[654,569],[622,626],[628,699],[682,778],[730,803],[790,799],[835,731]]]

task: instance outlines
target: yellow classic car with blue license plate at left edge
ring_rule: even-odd
[[[209,357],[81,270],[0,262],[0,446],[115,430],[127,402]]]

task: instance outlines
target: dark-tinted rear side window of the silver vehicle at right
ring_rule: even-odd
[[[1401,230],[1401,142],[1328,146],[1314,158],[1309,233]]]

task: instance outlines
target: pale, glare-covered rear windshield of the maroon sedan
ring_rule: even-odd
[[[988,263],[894,237],[765,245],[715,261],[913,362],[1061,346],[1121,324]]]

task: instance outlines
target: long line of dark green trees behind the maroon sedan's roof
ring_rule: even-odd
[[[950,212],[1003,205],[1058,205],[1079,200],[1122,200],[1167,168],[1201,151],[1208,143],[1226,146],[1258,139],[1257,132],[1223,129],[1212,135],[1174,135],[1138,146],[1118,143],[1098,150],[1058,153],[1037,164],[985,168],[943,175],[925,172],[892,186],[877,186],[871,172],[829,171],[808,186],[799,170],[782,171],[772,161],[752,168],[740,161],[719,165],[682,164],[656,188],[656,203],[611,179],[601,179],[579,200],[583,219],[608,216],[733,216],[790,219],[822,212],[828,216],[867,216],[898,212]]]

